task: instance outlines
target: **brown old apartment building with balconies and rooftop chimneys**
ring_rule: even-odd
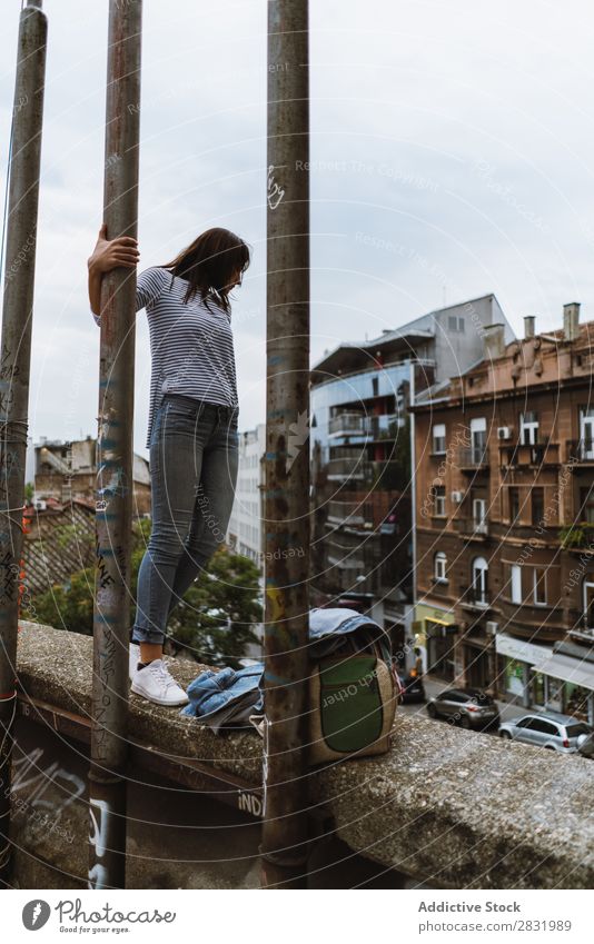
[[[594,722],[594,322],[485,354],[413,407],[414,634],[429,672]]]

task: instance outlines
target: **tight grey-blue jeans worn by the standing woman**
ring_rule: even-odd
[[[238,407],[166,394],[149,450],[152,529],[131,639],[162,644],[167,620],[225,539],[237,483]]]

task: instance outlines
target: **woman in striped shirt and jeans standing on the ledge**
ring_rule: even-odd
[[[98,325],[103,274],[133,269],[138,260],[136,239],[109,240],[101,227],[89,258]],[[147,309],[150,332],[152,529],[138,574],[130,678],[131,690],[157,705],[188,702],[162,659],[167,620],[224,539],[231,514],[239,407],[229,292],[249,260],[238,236],[209,229],[137,281],[136,310]]]

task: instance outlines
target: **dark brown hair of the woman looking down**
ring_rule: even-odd
[[[220,227],[207,229],[161,268],[188,280],[184,301],[200,295],[207,308],[214,300],[228,315],[229,292],[236,272],[245,272],[250,262],[249,249],[235,232]],[[210,310],[210,308],[209,308]]]

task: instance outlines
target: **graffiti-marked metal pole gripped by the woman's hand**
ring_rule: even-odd
[[[110,0],[103,221],[137,236],[141,0]],[[136,276],[101,287],[89,886],[125,887]]]

